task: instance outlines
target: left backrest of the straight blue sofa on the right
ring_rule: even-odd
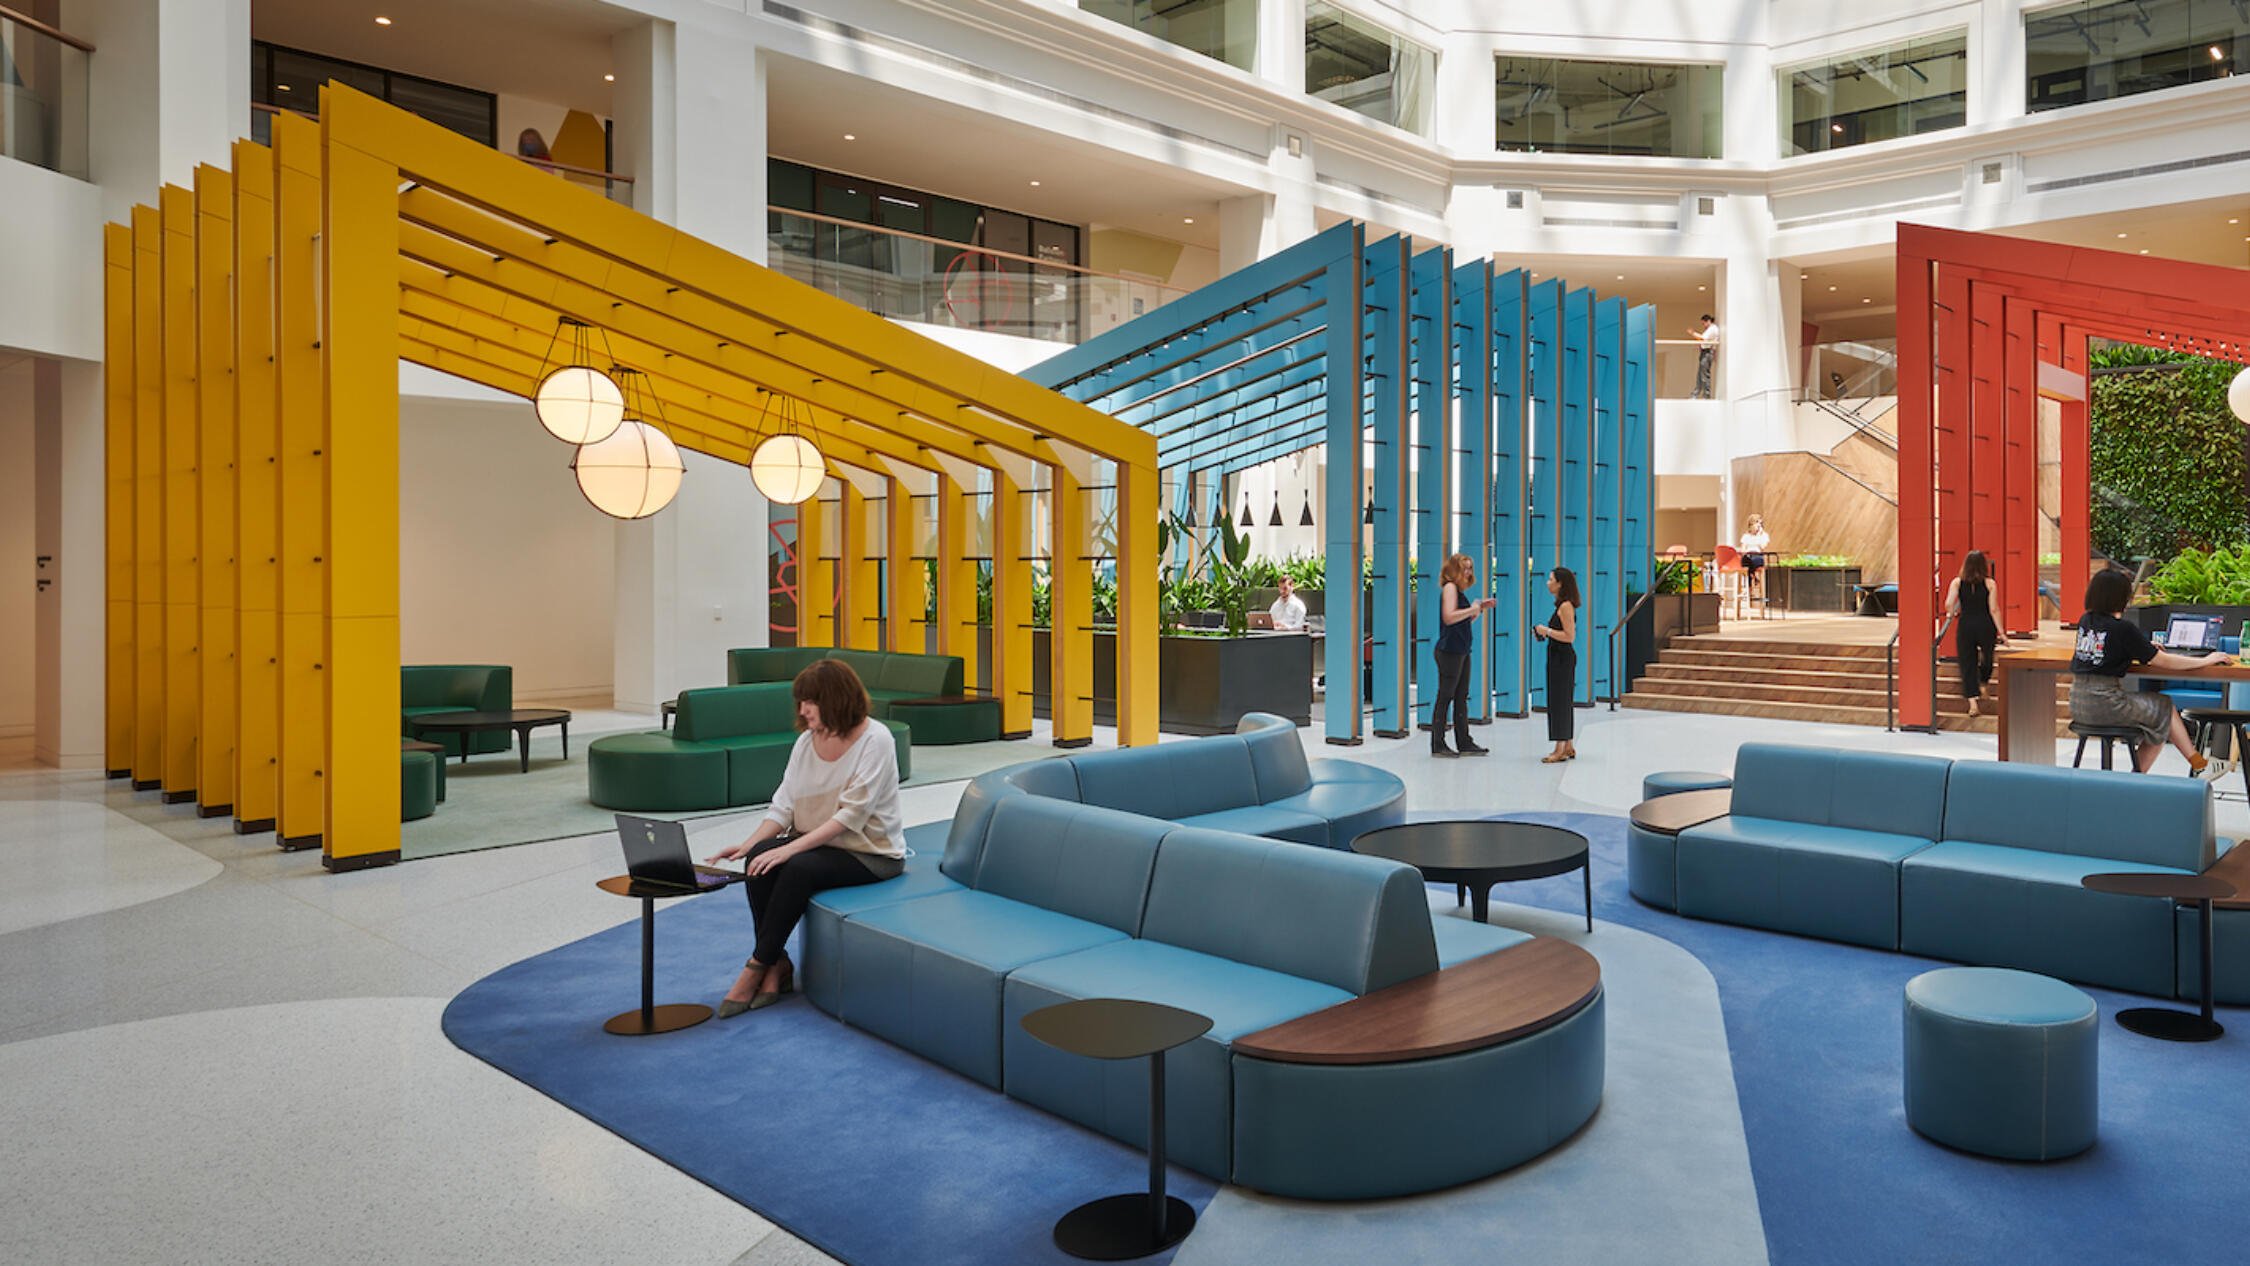
[[[1746,742],[1735,753],[1735,816],[1940,839],[1946,771],[1937,756]]]

